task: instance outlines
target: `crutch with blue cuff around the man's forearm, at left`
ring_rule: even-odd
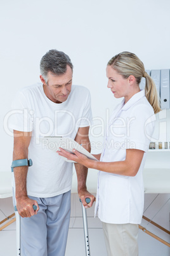
[[[20,215],[16,209],[16,198],[15,198],[15,176],[13,172],[13,168],[19,167],[19,166],[32,166],[32,160],[31,159],[18,159],[14,160],[11,165],[11,172],[12,172],[12,178],[13,178],[13,191],[14,191],[14,200],[15,200],[15,216],[16,216],[16,255],[21,256],[21,218]],[[33,205],[34,211],[37,210],[37,206]]]

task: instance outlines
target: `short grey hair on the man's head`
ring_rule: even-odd
[[[67,65],[73,70],[72,62],[67,54],[58,50],[49,50],[41,59],[40,71],[44,80],[48,71],[54,75],[62,75],[67,71]]]

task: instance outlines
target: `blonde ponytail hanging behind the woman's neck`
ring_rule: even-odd
[[[152,80],[152,78],[146,72],[143,77],[145,77],[146,81],[145,96],[147,97],[147,100],[151,104],[152,108],[154,109],[154,113],[159,113],[161,109],[154,80]]]

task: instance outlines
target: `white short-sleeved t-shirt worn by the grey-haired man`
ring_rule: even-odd
[[[16,113],[10,117],[10,129],[32,131],[29,158],[33,166],[29,167],[27,174],[27,194],[53,197],[69,191],[73,164],[47,149],[37,138],[63,136],[75,139],[79,127],[91,124],[89,90],[72,85],[67,101],[57,104],[46,97],[42,84],[37,83],[16,94],[12,109]]]

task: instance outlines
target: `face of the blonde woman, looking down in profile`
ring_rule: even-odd
[[[125,97],[125,99],[128,99],[129,78],[123,78],[112,66],[107,66],[106,71],[108,78],[107,87],[110,88],[115,98]]]

